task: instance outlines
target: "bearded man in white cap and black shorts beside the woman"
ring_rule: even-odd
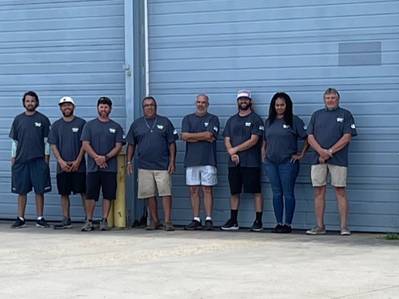
[[[237,231],[240,193],[253,193],[256,219],[251,231],[263,230],[263,198],[261,194],[261,148],[264,126],[262,119],[252,111],[251,93],[240,90],[237,94],[238,113],[227,120],[223,136],[229,153],[229,185],[231,192],[230,219],[222,230]]]

